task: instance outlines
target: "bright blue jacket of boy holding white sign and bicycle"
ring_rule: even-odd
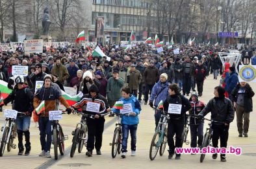
[[[140,114],[141,107],[140,102],[138,102],[137,98],[131,95],[129,98],[121,98],[120,101],[123,101],[123,104],[129,104],[131,103],[131,106],[133,107],[133,112],[136,113],[136,116],[123,116],[122,117],[122,124],[127,125],[135,125],[138,124],[138,114]],[[112,108],[112,111],[114,113],[120,113],[119,109]]]

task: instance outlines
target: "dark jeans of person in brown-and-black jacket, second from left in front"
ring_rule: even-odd
[[[49,120],[49,117],[39,117],[38,124],[40,130],[41,148],[45,152],[49,152],[51,148],[51,121]],[[46,141],[45,137],[47,137]]]

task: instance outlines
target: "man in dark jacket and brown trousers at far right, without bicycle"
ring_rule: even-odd
[[[248,137],[250,112],[253,111],[253,96],[254,92],[247,82],[240,82],[232,92],[232,102],[234,103],[237,113],[238,137],[242,137],[243,131],[244,137]]]

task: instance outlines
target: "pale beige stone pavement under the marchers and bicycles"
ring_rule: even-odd
[[[200,98],[203,102],[207,103],[214,95],[214,87],[218,85],[219,80],[213,80],[209,76],[205,81],[203,96]],[[256,91],[256,84],[251,83],[253,91]],[[256,97],[253,98],[254,106],[256,104]],[[210,115],[207,115],[209,117]],[[203,163],[199,163],[199,155],[181,155],[181,160],[168,159],[168,152],[160,157],[157,155],[154,161],[149,159],[149,146],[153,137],[155,129],[155,120],[153,117],[153,110],[147,105],[142,104],[142,112],[140,114],[140,124],[138,124],[137,131],[137,148],[136,156],[131,157],[130,146],[128,145],[129,152],[127,158],[122,159],[117,155],[115,159],[111,157],[111,146],[114,133],[114,124],[116,117],[106,117],[105,131],[103,133],[103,147],[102,155],[96,155],[94,151],[93,157],[86,157],[86,149],[82,153],[75,152],[73,158],[70,158],[70,145],[71,145],[71,131],[75,128],[75,124],[79,122],[80,117],[77,115],[64,115],[64,119],[60,121],[64,134],[69,136],[68,141],[65,141],[66,152],[64,156],[60,157],[58,161],[52,159],[45,159],[38,157],[41,152],[39,141],[39,130],[31,122],[31,155],[25,157],[24,155],[18,156],[18,149],[5,152],[3,157],[0,158],[0,168],[256,168],[256,114],[254,112],[250,115],[250,131],[248,138],[238,137],[236,118],[231,123],[229,129],[228,146],[235,146],[242,148],[242,155],[227,155],[227,163],[221,163],[220,157],[212,160],[211,155],[206,155]],[[0,124],[3,125],[3,115],[0,116]],[[207,125],[205,125],[206,127]],[[188,135],[190,140],[190,135]],[[14,141],[18,144],[17,139]],[[130,138],[129,142],[130,144]],[[189,147],[190,145],[185,145]],[[167,150],[168,146],[166,147]],[[53,151],[51,151],[53,156]]]

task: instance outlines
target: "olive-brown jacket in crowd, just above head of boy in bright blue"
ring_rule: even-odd
[[[142,81],[142,75],[140,74],[140,71],[136,70],[131,71],[130,75],[127,76],[127,83],[129,84],[129,87],[131,90],[138,90],[140,87],[140,82]]]

